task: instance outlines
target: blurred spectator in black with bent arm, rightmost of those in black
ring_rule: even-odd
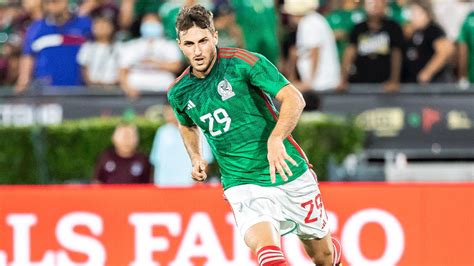
[[[403,82],[449,82],[452,76],[446,64],[453,55],[454,45],[443,29],[434,22],[431,4],[427,0],[413,0],[409,6],[410,28],[403,60]]]

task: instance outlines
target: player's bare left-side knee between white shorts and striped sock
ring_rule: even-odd
[[[265,246],[280,246],[280,233],[275,226],[268,221],[252,225],[244,235],[245,244],[257,252]]]

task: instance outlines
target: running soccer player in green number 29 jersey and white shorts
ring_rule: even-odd
[[[259,265],[287,265],[280,235],[289,232],[299,236],[315,264],[338,264],[340,245],[331,240],[314,172],[290,135],[305,105],[301,94],[264,56],[217,48],[212,13],[204,7],[183,8],[176,30],[190,66],[171,85],[168,99],[193,179],[206,179],[201,128],[237,227]],[[279,115],[270,97],[281,102]]]

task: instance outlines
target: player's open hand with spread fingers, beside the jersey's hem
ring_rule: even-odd
[[[293,165],[298,165],[293,158],[287,153],[283,141],[278,138],[270,137],[268,139],[268,163],[270,164],[270,178],[272,183],[276,182],[276,173],[278,172],[283,181],[288,181],[288,176],[292,176],[293,173],[288,167],[286,161],[289,161]],[[288,175],[288,176],[287,176]]]

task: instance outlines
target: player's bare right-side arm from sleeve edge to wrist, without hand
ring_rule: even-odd
[[[277,95],[277,100],[281,102],[280,117],[270,138],[287,138],[298,124],[305,106],[303,96],[293,85],[287,85],[284,89],[286,92],[280,92],[284,95]]]

